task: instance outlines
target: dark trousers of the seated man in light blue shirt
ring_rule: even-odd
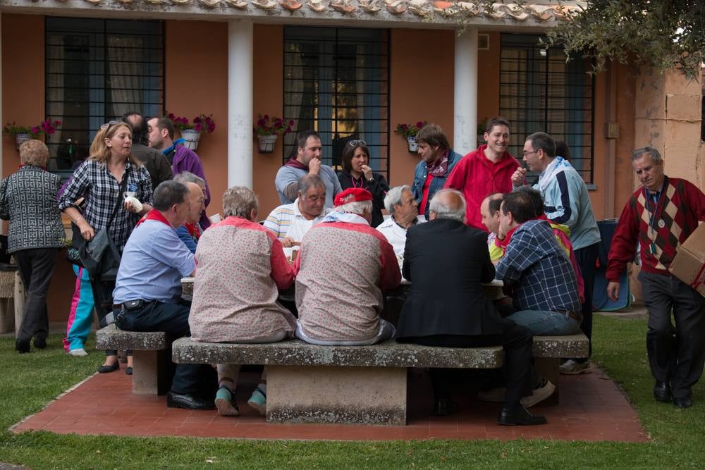
[[[188,326],[189,307],[164,302],[146,302],[134,310],[116,310],[115,323],[126,331],[165,331],[168,339],[176,340],[191,334]],[[171,353],[169,354],[171,357]],[[214,395],[218,388],[217,374],[208,364],[176,364],[171,381],[174,393]]]

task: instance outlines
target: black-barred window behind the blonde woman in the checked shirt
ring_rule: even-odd
[[[103,123],[127,111],[161,114],[164,34],[161,21],[45,20],[46,112],[61,121],[47,136],[52,171],[70,175]]]

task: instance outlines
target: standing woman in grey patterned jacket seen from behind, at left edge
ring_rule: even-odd
[[[13,253],[25,285],[27,301],[15,349],[30,352],[47,347],[49,319],[47,290],[56,268],[56,254],[63,247],[63,225],[56,194],[58,175],[44,170],[49,150],[44,142],[27,140],[20,146],[20,169],[0,183],[0,217],[10,221],[8,253]]]

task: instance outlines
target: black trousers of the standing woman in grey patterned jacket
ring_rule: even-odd
[[[47,291],[51,276],[56,269],[58,248],[30,248],[15,252],[20,278],[25,285],[27,300],[18,340],[29,341],[32,337],[46,340],[49,335],[47,316]]]

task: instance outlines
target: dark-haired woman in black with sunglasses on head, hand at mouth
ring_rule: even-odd
[[[384,196],[389,190],[387,180],[369,167],[369,148],[364,140],[350,140],[343,149],[343,171],[338,173],[338,180],[343,190],[349,187],[362,187],[372,194],[372,227],[376,227],[384,218]]]

